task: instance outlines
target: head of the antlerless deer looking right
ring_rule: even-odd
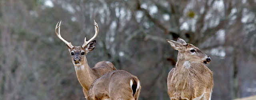
[[[182,38],[178,38],[177,42],[168,40],[172,48],[179,51],[178,60],[186,60],[192,62],[210,63],[211,58],[204,54],[199,48],[193,44],[187,44]]]

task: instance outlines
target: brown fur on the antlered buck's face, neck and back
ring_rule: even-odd
[[[88,44],[89,45],[89,44]],[[89,46],[88,46],[89,48]],[[76,70],[76,76],[78,81],[80,82],[81,86],[83,87],[84,96],[87,97],[88,90],[94,80],[103,76],[104,74],[116,70],[114,64],[108,61],[101,61],[98,62],[94,68],[90,68],[86,59],[86,54],[81,55],[80,52],[84,50],[86,53],[91,51],[86,48],[82,48],[81,46],[75,46],[74,48],[69,49],[70,52],[74,52],[74,56],[72,56],[72,62],[74,58],[80,58],[80,64],[74,64]],[[78,53],[77,53],[78,52]]]

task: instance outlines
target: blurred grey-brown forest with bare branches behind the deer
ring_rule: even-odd
[[[100,32],[88,64],[138,76],[139,100],[170,100],[168,72],[183,38],[212,58],[212,100],[256,94],[256,0],[0,0],[0,100],[84,100],[68,48]]]

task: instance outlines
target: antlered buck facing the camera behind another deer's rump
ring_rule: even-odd
[[[71,60],[74,64],[74,68],[76,71],[76,77],[81,84],[84,92],[85,98],[87,97],[88,90],[94,80],[97,78],[103,76],[104,74],[116,70],[114,64],[108,61],[101,61],[96,63],[94,68],[90,68],[88,65],[86,54],[88,52],[92,51],[95,48],[96,40],[93,40],[96,38],[99,32],[98,24],[94,20],[94,26],[95,26],[95,34],[92,38],[90,38],[88,41],[86,41],[86,37],[84,38],[84,44],[82,46],[73,46],[71,42],[67,42],[62,36],[60,35],[60,23],[58,22],[55,27],[55,33],[60,40],[62,40],[66,46],[68,47],[68,50],[71,55]],[[58,32],[57,32],[58,31]]]

